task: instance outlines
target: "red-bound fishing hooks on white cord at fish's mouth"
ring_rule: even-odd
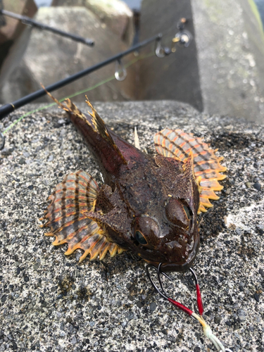
[[[232,352],[229,348],[225,348],[222,345],[222,342],[220,342],[220,340],[212,333],[212,330],[210,329],[209,325],[207,325],[206,321],[203,319],[203,301],[201,299],[201,291],[200,291],[200,287],[199,287],[199,282],[198,282],[198,279],[196,277],[194,270],[189,268],[191,275],[194,277],[194,282],[196,285],[197,306],[198,306],[200,316],[197,315],[196,313],[194,313],[192,310],[190,310],[186,306],[183,306],[182,303],[177,302],[168,296],[168,294],[165,292],[165,289],[163,287],[163,283],[161,282],[161,275],[167,277],[168,279],[170,279],[170,281],[172,281],[172,279],[167,274],[165,274],[165,272],[163,272],[161,270],[161,265],[162,265],[162,263],[159,263],[158,268],[156,268],[154,265],[151,265],[151,264],[146,265],[146,275],[149,277],[151,284],[153,285],[154,289],[156,289],[158,294],[160,294],[163,298],[167,299],[167,301],[172,303],[173,306],[176,306],[180,310],[183,310],[185,313],[190,315],[191,318],[198,320],[203,327],[203,334],[205,334],[206,337],[208,337],[208,339],[210,339],[210,341],[213,342],[213,344],[217,348],[218,352]],[[155,284],[155,282],[153,282],[153,279],[149,273],[149,268],[154,268],[157,271],[158,283],[160,284],[161,288],[159,288]]]

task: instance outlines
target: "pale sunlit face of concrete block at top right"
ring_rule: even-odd
[[[191,0],[206,113],[264,121],[264,32],[253,0]]]

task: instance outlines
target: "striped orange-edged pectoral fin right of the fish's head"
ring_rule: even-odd
[[[163,156],[178,158],[185,161],[192,152],[194,156],[194,175],[197,183],[201,186],[200,207],[198,213],[206,212],[206,208],[213,205],[209,199],[217,200],[219,197],[214,191],[220,191],[223,187],[218,181],[224,180],[227,168],[220,165],[223,157],[215,156],[215,151],[210,149],[208,144],[201,138],[194,137],[192,133],[185,133],[182,130],[169,130],[165,128],[154,136],[156,151]]]

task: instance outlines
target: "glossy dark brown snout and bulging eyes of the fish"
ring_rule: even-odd
[[[134,220],[134,245],[139,256],[163,271],[190,268],[199,249],[199,227],[194,208],[184,199],[168,199],[158,217],[141,215]]]

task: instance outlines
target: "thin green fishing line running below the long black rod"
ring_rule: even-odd
[[[134,65],[134,63],[137,63],[137,61],[141,61],[144,58],[149,58],[151,56],[155,56],[155,53],[151,52],[149,54],[142,55],[142,56],[139,56],[137,58],[134,58],[133,60],[131,60],[127,64],[125,64],[124,67],[125,68],[129,68],[131,65]],[[100,87],[101,85],[106,84],[107,82],[111,82],[112,80],[115,80],[115,75],[112,75],[111,77],[106,78],[106,80],[102,80],[101,82],[98,82],[98,83],[94,84],[92,87],[89,87],[89,88],[86,88],[86,89],[82,89],[79,92],[76,92],[74,94],[70,94],[69,96],[65,96],[64,98],[59,99],[58,101],[61,102],[61,101],[64,101],[65,99],[70,99],[70,98],[73,98],[74,96],[90,92],[93,89],[96,89],[97,87]],[[31,115],[32,113],[37,113],[37,111],[45,110],[46,108],[50,108],[51,106],[54,106],[54,105],[56,105],[56,103],[50,103],[49,105],[42,106],[41,108],[37,108],[37,109],[34,109],[32,111],[29,111],[28,113],[25,113],[24,115],[20,116],[20,118],[18,118],[18,120],[15,120],[15,122],[11,123],[11,125],[9,125],[6,128],[6,130],[4,130],[3,134],[5,134],[9,130],[11,130],[11,128],[13,128],[15,125],[17,125],[18,122],[23,120],[23,118],[27,117],[28,115]]]

